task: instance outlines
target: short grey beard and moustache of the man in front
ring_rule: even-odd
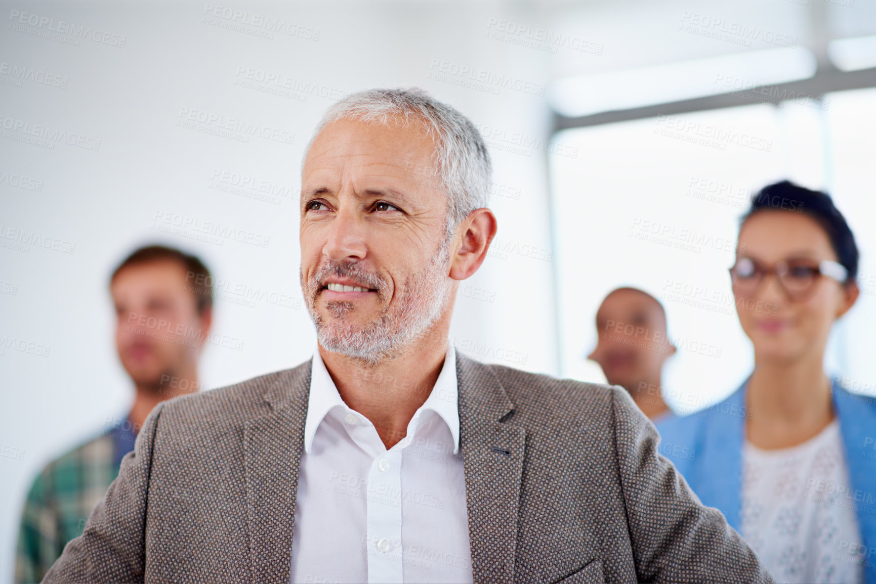
[[[429,261],[423,271],[405,281],[404,296],[394,306],[386,306],[371,322],[354,325],[347,316],[356,310],[351,302],[329,302],[326,308],[331,320],[316,312],[316,297],[321,292],[320,282],[329,275],[355,278],[377,289],[378,300],[385,299],[385,280],[363,271],[355,263],[329,261],[323,264],[302,288],[307,292],[307,312],[316,327],[316,337],[322,348],[348,356],[373,366],[401,355],[441,318],[450,298],[447,281],[449,241]]]

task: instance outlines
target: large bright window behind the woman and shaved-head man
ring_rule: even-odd
[[[663,375],[669,405],[696,410],[735,390],[753,364],[727,273],[738,219],[761,186],[791,179],[834,195],[858,237],[864,293],[834,329],[828,372],[876,395],[865,382],[876,380],[874,107],[867,89],[559,132],[580,152],[550,167],[561,375],[604,381],[586,359],[597,307],[630,285],[667,311],[678,348]]]

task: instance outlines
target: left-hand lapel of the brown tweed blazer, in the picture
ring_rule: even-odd
[[[281,372],[265,392],[272,412],[244,427],[251,578],[256,582],[289,581],[310,366],[305,362]]]

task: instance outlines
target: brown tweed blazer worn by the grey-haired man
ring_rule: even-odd
[[[456,366],[476,582],[771,581],[625,391]],[[309,389],[308,361],[158,405],[43,581],[288,582]]]

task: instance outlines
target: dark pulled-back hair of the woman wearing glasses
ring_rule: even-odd
[[[781,210],[809,215],[821,225],[830,239],[837,260],[849,272],[846,283],[858,278],[858,245],[845,217],[839,212],[828,193],[810,191],[789,180],[764,186],[752,196],[752,207],[739,224],[741,229],[748,219],[760,211]]]

